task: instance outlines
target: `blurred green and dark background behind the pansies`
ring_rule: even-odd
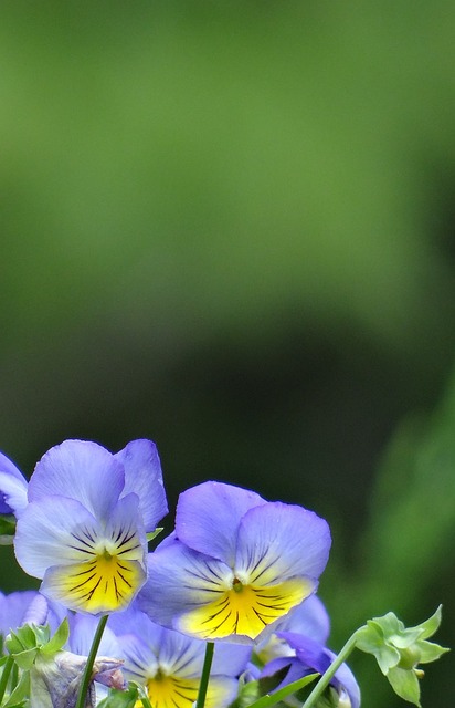
[[[453,645],[454,32],[444,0],[0,8],[0,448],[150,437],[172,509],[315,509],[334,649],[440,602]]]

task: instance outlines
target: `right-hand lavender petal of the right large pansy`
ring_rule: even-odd
[[[327,522],[294,504],[269,502],[246,512],[239,530],[237,577],[274,585],[292,577],[317,580],[330,550]]]

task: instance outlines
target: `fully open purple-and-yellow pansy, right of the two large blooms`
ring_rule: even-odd
[[[191,636],[251,642],[315,592],[329,548],[314,512],[204,482],[180,496],[174,534],[149,554],[139,603]]]

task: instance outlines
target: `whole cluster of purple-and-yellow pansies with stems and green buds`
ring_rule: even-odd
[[[327,522],[208,481],[180,494],[174,530],[149,552],[167,512],[150,440],[117,454],[65,440],[29,482],[0,454],[0,540],[42,581],[0,594],[0,708],[359,708],[316,594]],[[413,681],[413,642],[422,662],[444,652],[426,641],[437,624],[400,625]],[[390,659],[393,637],[379,621],[358,632],[382,665],[388,647],[396,683],[393,667],[408,668],[399,649]]]

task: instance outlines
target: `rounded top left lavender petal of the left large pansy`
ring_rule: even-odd
[[[124,489],[123,465],[104,447],[65,440],[38,462],[29,482],[29,501],[50,494],[80,501],[97,519],[107,520]]]

